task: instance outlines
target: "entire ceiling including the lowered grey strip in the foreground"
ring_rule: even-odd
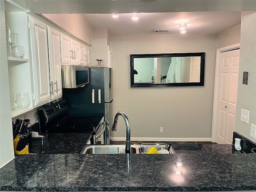
[[[178,19],[188,19],[186,34],[216,34],[237,26],[241,11],[256,11],[256,0],[8,0],[36,14],[83,14],[110,34],[179,34]],[[132,20],[132,13],[139,20]],[[111,13],[118,13],[112,18]]]

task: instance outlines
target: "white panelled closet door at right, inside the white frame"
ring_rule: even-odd
[[[216,142],[218,144],[232,144],[236,122],[239,54],[239,49],[220,53],[216,127]]]

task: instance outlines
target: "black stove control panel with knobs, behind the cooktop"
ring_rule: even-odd
[[[45,123],[48,123],[49,121],[63,114],[67,110],[68,110],[68,105],[66,100],[64,99],[38,109],[39,117],[44,118]]]

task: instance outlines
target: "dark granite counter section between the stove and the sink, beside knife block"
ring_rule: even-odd
[[[92,133],[48,133],[48,143],[33,145],[30,153],[79,154]]]

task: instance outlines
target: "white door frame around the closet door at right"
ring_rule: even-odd
[[[219,80],[220,80],[220,53],[240,48],[240,43],[218,48],[216,53],[216,66],[215,66],[215,81],[214,81],[214,98],[213,98],[213,112],[212,112],[212,142],[216,141],[216,126],[218,114],[218,94],[219,94]]]

